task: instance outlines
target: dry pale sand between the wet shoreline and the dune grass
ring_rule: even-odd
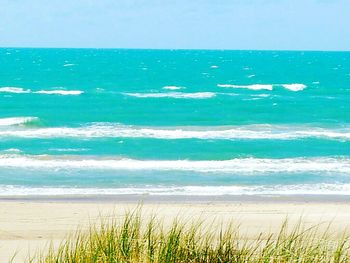
[[[121,217],[137,202],[72,202],[72,201],[0,201],[0,262],[17,250],[14,262],[24,262],[29,253],[43,248],[51,240],[59,243],[69,233],[100,216]],[[254,238],[260,232],[276,232],[286,217],[291,224],[300,217],[307,225],[332,223],[338,236],[350,226],[350,202],[151,202],[143,205],[147,215],[157,214],[169,223],[176,216],[205,219],[205,222],[241,224],[241,232]],[[219,223],[218,223],[219,224]],[[322,224],[326,227],[327,224]]]

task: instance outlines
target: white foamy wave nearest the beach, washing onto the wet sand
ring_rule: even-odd
[[[350,195],[350,184],[300,184],[274,186],[169,186],[125,188],[64,188],[0,186],[0,196],[64,195],[156,195],[156,196],[240,196],[240,195]]]

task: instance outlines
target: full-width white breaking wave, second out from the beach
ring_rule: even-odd
[[[278,172],[331,172],[350,174],[347,158],[237,158],[231,160],[135,160],[98,159],[81,156],[57,157],[50,155],[0,155],[2,168],[38,169],[94,169],[94,170],[155,170],[193,171],[215,173],[278,173]]]

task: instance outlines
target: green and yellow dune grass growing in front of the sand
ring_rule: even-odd
[[[285,221],[279,233],[249,240],[234,224],[217,228],[174,220],[163,227],[156,217],[143,219],[140,211],[126,213],[121,221],[77,231],[29,262],[350,262],[350,240],[334,239],[317,226],[306,229],[299,223],[290,228]]]

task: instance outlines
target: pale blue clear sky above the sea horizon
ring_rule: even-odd
[[[350,50],[350,0],[0,0],[0,46]]]

